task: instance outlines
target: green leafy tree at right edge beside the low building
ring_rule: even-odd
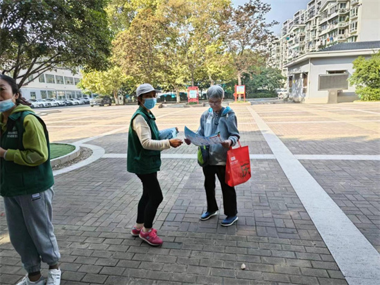
[[[361,100],[380,100],[380,51],[370,59],[358,57],[352,62],[354,73],[350,77],[350,85],[356,85]]]

